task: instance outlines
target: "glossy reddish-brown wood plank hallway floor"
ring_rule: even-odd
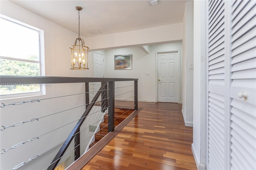
[[[139,102],[143,109],[82,170],[196,170],[192,127],[181,104]]]

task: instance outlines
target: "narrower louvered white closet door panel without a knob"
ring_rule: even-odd
[[[208,169],[224,169],[224,1],[208,2]]]

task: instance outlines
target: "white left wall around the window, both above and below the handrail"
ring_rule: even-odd
[[[41,16],[38,16],[24,8],[21,8],[10,1],[1,1],[0,11],[1,14],[5,16],[44,30],[46,76],[91,77],[92,69],[86,71],[69,69],[71,66],[71,57],[70,49],[68,47],[73,45],[74,40],[78,37],[76,33],[71,32],[49,20],[46,20],[45,18],[42,18]],[[92,52],[90,52],[89,63],[91,63],[89,68],[92,68]],[[1,103],[7,104],[17,101],[30,101],[32,99],[47,99],[40,101],[40,103],[26,103],[24,105],[11,105],[1,108],[0,125],[10,126],[17,122],[28,121],[29,119],[42,117],[84,105],[84,95],[48,99],[50,97],[81,93],[84,91],[84,89],[85,86],[83,83],[55,84],[51,87],[46,87],[46,95],[1,100]],[[30,138],[40,136],[49,130],[75,121],[81,117],[84,110],[84,106],[79,107],[77,109],[65,111],[51,117],[42,118],[39,121],[33,121],[18,127],[12,127],[1,131],[0,149],[11,148],[15,144],[26,142]],[[65,117],[65,119],[62,119],[63,117]],[[1,154],[0,169],[12,169],[17,164],[27,161],[29,158],[40,154],[54,144],[64,140],[70,133],[71,129],[74,128],[75,123],[61,128],[61,130],[57,130],[54,133],[46,134],[40,137],[40,139],[28,142],[23,146],[9,150],[5,154]],[[64,133],[62,133],[63,131]],[[50,152],[40,156],[40,158],[34,159],[20,169],[45,168],[47,164],[50,164],[50,162],[53,160],[60,146],[57,146]],[[38,162],[39,160],[40,162]]]

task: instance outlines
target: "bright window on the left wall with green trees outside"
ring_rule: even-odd
[[[3,15],[0,23],[0,75],[44,75],[44,31]],[[41,91],[37,84],[0,85],[1,98]]]

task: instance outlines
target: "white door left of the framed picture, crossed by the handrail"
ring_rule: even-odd
[[[104,55],[93,52],[93,77],[104,78]],[[96,95],[98,89],[100,89],[101,83],[93,83],[93,96]]]

